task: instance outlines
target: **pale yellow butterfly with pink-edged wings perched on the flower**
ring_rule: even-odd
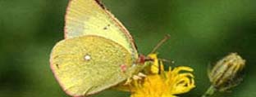
[[[98,0],[71,0],[65,20],[65,39],[50,63],[68,95],[93,95],[144,68],[130,33]]]

